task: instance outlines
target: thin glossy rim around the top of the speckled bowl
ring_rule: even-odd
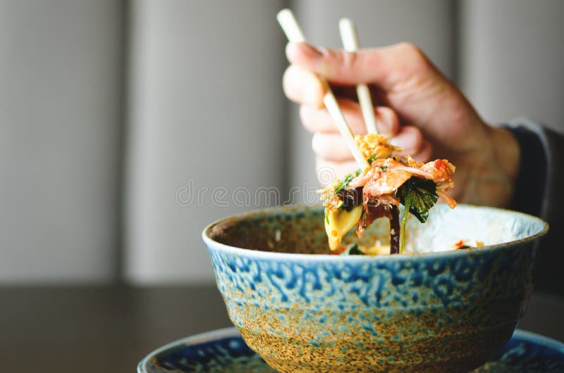
[[[204,240],[204,244],[206,244],[209,251],[212,250],[212,247],[216,251],[221,251],[223,253],[233,253],[238,255],[243,255],[245,257],[254,257],[254,258],[262,258],[262,259],[285,259],[290,261],[314,261],[314,262],[326,262],[326,261],[339,261],[342,262],[343,260],[347,262],[367,262],[367,261],[381,261],[385,262],[388,260],[393,261],[408,261],[417,258],[418,260],[422,260],[425,258],[433,259],[433,258],[445,258],[445,257],[458,257],[458,256],[465,256],[465,255],[479,255],[482,253],[487,253],[490,251],[496,250],[503,250],[512,248],[513,246],[520,246],[521,244],[527,244],[529,241],[536,241],[541,236],[544,236],[548,232],[548,222],[542,220],[540,217],[529,215],[526,213],[521,213],[520,211],[509,210],[507,208],[497,208],[491,206],[478,206],[466,203],[459,203],[458,207],[462,208],[479,208],[481,210],[496,210],[496,211],[503,211],[505,213],[512,213],[516,215],[522,215],[523,217],[527,217],[528,219],[537,220],[542,225],[542,229],[533,234],[532,236],[528,236],[522,239],[517,239],[514,241],[503,242],[501,244],[495,245],[486,245],[479,248],[472,248],[472,250],[445,250],[445,251],[438,251],[438,252],[430,252],[430,253],[401,253],[401,254],[394,254],[394,255],[334,255],[331,253],[327,254],[302,254],[302,253],[281,253],[277,251],[261,251],[252,248],[240,248],[236,246],[230,246],[226,244],[221,244],[221,242],[216,241],[208,236],[208,233],[211,231],[212,227],[218,225],[221,222],[226,220],[241,220],[245,217],[250,217],[252,215],[258,215],[260,213],[267,213],[272,214],[276,212],[283,212],[284,210],[294,210],[302,208],[304,210],[320,210],[321,206],[303,206],[303,205],[292,205],[292,206],[276,206],[276,207],[269,207],[269,208],[258,208],[254,210],[248,210],[243,213],[237,213],[233,215],[229,215],[226,217],[222,217],[221,219],[215,220],[214,222],[207,225],[204,230],[202,231],[202,239]]]

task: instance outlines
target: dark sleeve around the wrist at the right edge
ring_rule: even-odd
[[[520,146],[520,171],[511,205],[548,222],[535,259],[535,288],[564,295],[564,134],[526,119],[506,125]],[[560,232],[560,234],[558,234]]]

